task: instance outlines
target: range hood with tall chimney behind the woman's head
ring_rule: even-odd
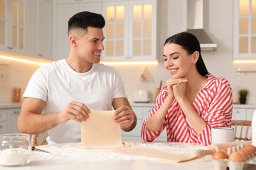
[[[217,44],[211,41],[203,29],[203,0],[187,0],[187,12],[186,31],[198,38],[201,50],[216,50]]]

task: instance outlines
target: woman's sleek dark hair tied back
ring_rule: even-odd
[[[166,39],[165,44],[167,43],[174,43],[182,46],[182,48],[184,48],[184,50],[186,50],[188,54],[193,54],[195,51],[198,51],[199,58],[198,61],[196,62],[196,69],[198,69],[198,73],[200,73],[200,75],[202,76],[205,76],[209,73],[203,62],[203,58],[201,56],[200,43],[196,36],[187,32],[177,33]]]

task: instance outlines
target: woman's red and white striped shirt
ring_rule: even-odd
[[[211,127],[231,126],[233,106],[230,84],[224,78],[216,78],[211,74],[206,76],[207,82],[192,104],[194,110],[207,123],[202,133],[198,135],[194,131],[176,99],[171,103],[160,131],[149,131],[146,129],[145,122],[153,114],[156,114],[156,111],[160,109],[168,95],[167,86],[163,86],[156,99],[155,107],[143,122],[141,136],[144,141],[154,141],[166,127],[167,141],[169,142],[200,143],[208,146],[211,144]]]

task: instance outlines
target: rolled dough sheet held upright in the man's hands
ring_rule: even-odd
[[[119,148],[121,141],[120,125],[114,122],[114,110],[93,110],[81,124],[81,144],[83,148]]]

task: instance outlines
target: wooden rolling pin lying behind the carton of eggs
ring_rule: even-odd
[[[207,150],[196,150],[196,157],[203,157],[206,155],[213,155],[215,152],[219,151],[221,148],[228,148],[232,145],[244,144],[245,146],[251,145],[251,141],[240,141],[240,142],[232,142],[232,143],[216,143],[210,144]]]

